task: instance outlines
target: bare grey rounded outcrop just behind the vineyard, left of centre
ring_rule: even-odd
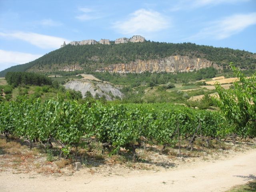
[[[96,82],[90,82],[90,81],[83,82],[79,80],[71,80],[66,84],[64,84],[64,86],[65,88],[81,91],[83,97],[86,91],[90,91],[93,96],[95,96],[96,93],[98,93],[100,97],[105,95],[107,100],[114,100],[115,97],[122,98],[124,96],[124,94],[122,94],[122,92],[120,92],[119,89],[106,83],[96,83]]]

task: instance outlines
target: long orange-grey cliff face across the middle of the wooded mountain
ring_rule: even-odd
[[[188,72],[199,70],[206,67],[213,66],[216,69],[220,67],[206,59],[190,58],[188,56],[170,56],[166,58],[154,60],[136,60],[128,64],[114,64],[98,71],[109,71],[118,73],[141,73],[145,71],[150,72]]]

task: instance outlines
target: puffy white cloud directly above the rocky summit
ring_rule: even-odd
[[[113,28],[122,34],[150,34],[170,26],[168,18],[153,10],[139,9],[124,21],[114,23]]]

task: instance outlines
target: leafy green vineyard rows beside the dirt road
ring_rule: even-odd
[[[126,148],[136,160],[136,148],[146,144],[174,146],[188,140],[193,149],[197,137],[208,145],[211,139],[220,140],[232,134],[248,136],[250,129],[234,132],[219,112],[196,110],[173,104],[79,104],[75,100],[28,100],[0,103],[0,132],[24,140],[41,142],[52,147],[62,146],[60,155],[68,155],[70,147],[84,146],[92,140],[102,143],[116,154]]]

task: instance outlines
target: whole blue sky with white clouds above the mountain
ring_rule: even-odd
[[[134,35],[256,53],[256,0],[0,0],[0,71],[64,41]]]

